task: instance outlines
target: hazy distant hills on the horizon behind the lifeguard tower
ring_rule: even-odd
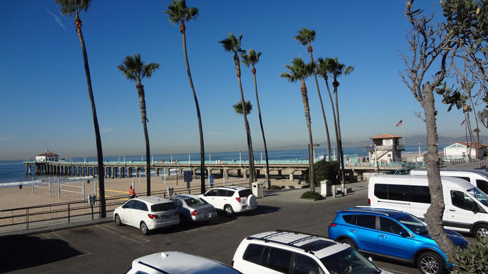
[[[474,137],[476,139],[476,136]],[[402,139],[400,139],[402,140]],[[427,136],[426,135],[416,135],[416,136],[406,136],[405,137],[405,145],[418,145],[419,142],[421,144],[426,143]],[[485,143],[488,142],[488,136],[480,136],[480,142],[485,141]],[[461,137],[446,137],[446,136],[441,136],[439,135],[439,145],[450,145],[454,142],[465,142],[466,137],[461,136]],[[469,142],[469,137],[468,137],[468,142]],[[476,140],[474,140],[476,142]],[[371,145],[373,142],[371,140],[363,140],[360,142],[348,142],[348,141],[343,141],[342,145],[344,147],[365,147],[367,145]],[[327,147],[327,143],[325,142],[319,142],[318,143],[320,147]],[[332,146],[336,146],[336,142],[331,142]],[[284,146],[279,146],[279,147],[270,147],[272,150],[292,150],[292,149],[307,149],[307,145],[302,145],[302,144],[292,144],[292,145],[284,145]]]

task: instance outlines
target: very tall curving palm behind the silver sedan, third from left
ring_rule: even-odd
[[[185,22],[196,19],[196,16],[198,16],[198,8],[188,8],[185,0],[171,1],[171,5],[167,5],[167,11],[164,13],[169,14],[171,23],[174,23],[175,25],[180,24],[180,32],[183,38],[183,55],[185,56],[185,64],[187,66],[188,81],[195,100],[198,133],[200,134],[200,191],[205,193],[205,145],[203,143],[202,117],[200,116],[200,107],[198,106],[198,99],[196,97],[193,79],[191,78],[191,71],[189,69],[187,36],[185,32]]]

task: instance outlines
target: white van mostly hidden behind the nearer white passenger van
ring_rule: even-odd
[[[410,175],[427,175],[427,171],[426,169],[412,169]],[[441,176],[464,179],[488,195],[487,171],[480,169],[441,169]]]

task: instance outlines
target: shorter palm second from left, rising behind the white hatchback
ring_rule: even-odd
[[[152,72],[159,69],[158,63],[144,64],[141,60],[141,54],[137,53],[134,57],[126,55],[122,64],[117,66],[117,69],[126,75],[127,79],[136,82],[137,95],[139,95],[139,108],[141,109],[142,125],[144,127],[144,138],[146,138],[146,184],[148,188],[148,196],[151,195],[151,166],[150,166],[150,149],[149,149],[149,135],[147,122],[149,121],[146,115],[146,95],[144,94],[144,86],[142,79],[150,78]]]

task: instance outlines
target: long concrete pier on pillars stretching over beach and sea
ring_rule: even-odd
[[[67,176],[95,176],[97,174],[97,162],[71,162],[71,161],[25,161],[25,174],[32,174],[32,167],[36,175],[67,175]],[[181,174],[183,170],[191,170],[193,175],[202,174],[200,171],[200,161],[173,161],[162,162],[154,161],[150,164],[151,170],[159,175],[161,172],[170,175],[170,171],[177,171]],[[348,181],[354,181],[353,177],[361,176],[363,173],[408,173],[410,169],[422,167],[419,162],[348,162],[345,163],[345,175]],[[146,161],[126,161],[126,162],[104,162],[105,177],[139,177],[139,173],[146,168]],[[290,180],[301,177],[301,173],[308,168],[307,160],[270,160],[270,173],[279,177],[289,177]],[[249,165],[247,161],[224,162],[220,160],[205,161],[204,174],[215,174],[212,171],[218,170],[222,177],[229,177],[229,171],[237,173],[238,177],[244,179],[248,177]],[[266,174],[266,164],[261,161],[255,162],[256,173]]]

